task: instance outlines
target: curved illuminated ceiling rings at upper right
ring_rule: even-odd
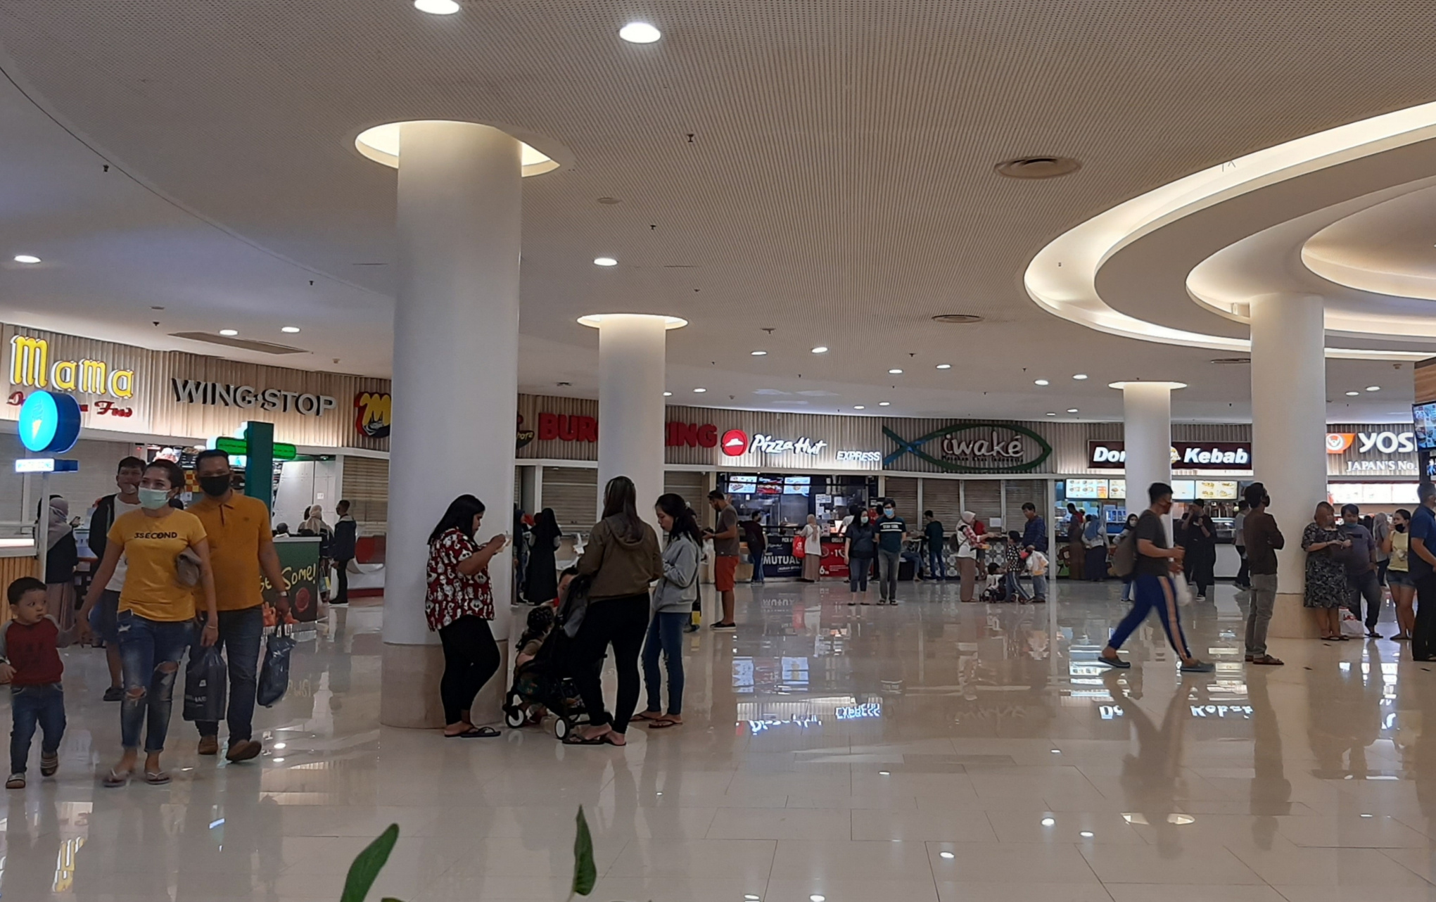
[[[1149,236],[1160,237],[1162,241],[1159,241],[1159,246],[1166,253],[1147,256],[1149,261],[1144,267],[1144,276],[1150,280],[1165,274],[1169,284],[1163,286],[1166,290],[1157,296],[1149,293],[1144,302],[1149,307],[1160,306],[1172,309],[1175,307],[1172,300],[1178,294],[1170,290],[1170,280],[1180,276],[1185,282],[1188,271],[1192,271],[1205,257],[1219,250],[1219,247],[1211,247],[1196,259],[1190,259],[1199,248],[1192,247],[1189,241],[1180,240],[1178,237],[1180,230],[1173,228],[1180,227],[1183,220],[1208,211],[1216,211],[1223,204],[1246,201],[1245,204],[1234,204],[1231,211],[1225,211],[1228,218],[1234,218],[1235,221],[1225,224],[1228,231],[1222,244],[1232,244],[1235,243],[1234,238],[1245,238],[1252,230],[1279,227],[1279,223],[1254,221],[1251,215],[1232,217],[1232,213],[1239,208],[1245,207],[1244,213],[1251,214],[1267,205],[1265,200],[1256,198],[1258,192],[1271,191],[1278,201],[1288,205],[1300,204],[1301,198],[1294,195],[1304,194],[1304,191],[1288,190],[1282,194],[1274,190],[1292,188],[1292,182],[1300,180],[1305,180],[1307,182],[1301,188],[1311,188],[1323,175],[1328,175],[1333,169],[1347,167],[1348,164],[1357,164],[1358,169],[1364,164],[1367,175],[1371,177],[1373,174],[1389,171],[1386,165],[1374,165],[1373,158],[1403,149],[1412,151],[1406,155],[1409,158],[1407,162],[1423,167],[1423,174],[1429,175],[1432,172],[1430,154],[1417,154],[1414,151],[1425,151],[1425,148],[1417,148],[1416,145],[1422,145],[1433,138],[1436,138],[1436,103],[1425,103],[1297,138],[1202,169],[1119,204],[1058,236],[1028,264],[1024,274],[1024,287],[1028,296],[1050,313],[1099,332],[1122,335],[1144,342],[1199,346],[1225,352],[1249,352],[1251,340],[1244,335],[1238,335],[1235,325],[1223,325],[1221,319],[1221,316],[1225,316],[1228,320],[1241,320],[1242,312],[1238,306],[1241,302],[1226,302],[1225,310],[1222,304],[1216,304],[1216,309],[1208,309],[1205,320],[1192,316],[1195,309],[1178,309],[1172,312],[1172,316],[1179,323],[1167,325],[1159,322],[1160,313],[1153,315],[1149,312],[1143,316],[1134,316],[1109,303],[1110,299],[1099,290],[1099,279],[1103,279],[1104,283],[1107,279],[1107,273],[1103,271],[1104,267],[1123,250],[1143,238]],[[1384,164],[1386,161],[1380,162]],[[1310,177],[1317,178],[1313,180]],[[1410,177],[1403,181],[1409,180]],[[1390,185],[1383,187],[1389,188]],[[1346,185],[1344,190],[1347,194],[1340,200],[1350,197],[1350,185]],[[1321,197],[1321,194],[1317,191],[1313,192],[1313,197]],[[1325,197],[1318,201],[1318,205],[1327,207],[1337,200],[1335,197]],[[1310,204],[1310,198],[1307,201]],[[1310,205],[1300,210],[1301,214],[1310,211]],[[1307,231],[1302,236],[1302,241],[1318,228],[1320,226]],[[1163,230],[1173,231],[1167,236],[1159,236]],[[1173,253],[1189,257],[1188,264],[1176,264]],[[1129,261],[1127,266],[1133,267],[1134,264]],[[1331,287],[1330,283],[1323,282],[1323,284],[1327,289]],[[1287,290],[1291,289],[1288,287]],[[1265,292],[1248,292],[1245,297]],[[1328,292],[1320,290],[1318,293],[1325,296]],[[1213,313],[1219,316],[1213,316]],[[1420,316],[1420,310],[1404,310],[1394,316],[1412,317]],[[1328,329],[1335,333],[1330,336],[1335,342],[1327,348],[1328,358],[1413,361],[1430,356],[1430,350],[1409,349],[1412,329],[1406,323],[1393,335],[1381,335],[1373,332],[1366,320],[1354,322],[1340,315],[1335,319],[1337,322],[1333,322],[1333,312],[1328,309]],[[1383,325],[1396,323],[1391,315],[1377,319]],[[1416,338],[1419,340],[1426,335],[1436,338],[1436,320],[1423,323]],[[1396,343],[1406,343],[1407,348],[1399,348]]]

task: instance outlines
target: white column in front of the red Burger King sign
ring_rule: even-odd
[[[653,521],[663,494],[665,332],[681,325],[666,316],[605,313],[586,317],[599,327],[599,498],[616,475],[633,480],[638,513]],[[698,498],[688,498],[695,506]]]

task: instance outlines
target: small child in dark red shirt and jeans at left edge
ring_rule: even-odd
[[[0,682],[10,684],[10,778],[6,789],[24,789],[24,768],[36,724],[40,740],[40,776],[60,768],[65,735],[65,689],[60,687],[60,626],[45,613],[45,583],[22,576],[6,589],[11,620],[0,626]]]

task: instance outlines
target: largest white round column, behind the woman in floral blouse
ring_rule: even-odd
[[[424,616],[429,531],[461,494],[488,507],[480,541],[513,530],[520,144],[468,122],[401,129],[379,720],[435,727],[444,722],[444,659]],[[500,638],[511,569],[507,552],[488,566]],[[500,669],[474,705],[474,722],[500,718],[503,681]]]

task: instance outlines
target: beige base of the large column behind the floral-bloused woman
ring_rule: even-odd
[[[504,692],[508,689],[508,642],[498,642],[498,672],[474,698],[471,718],[475,725],[504,720]],[[379,722],[406,730],[444,727],[439,702],[439,676],[444,675],[444,648],[439,645],[383,643],[383,679],[379,687]]]

